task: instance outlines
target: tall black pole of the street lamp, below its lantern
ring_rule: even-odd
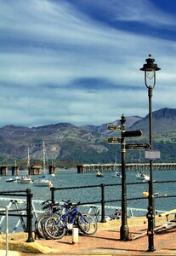
[[[152,90],[153,87],[148,87],[149,96],[149,137],[150,137],[150,148],[152,149]],[[148,207],[148,252],[155,251],[154,249],[154,224],[155,224],[155,201],[153,195],[153,160],[150,160],[150,181],[149,181],[149,207]]]

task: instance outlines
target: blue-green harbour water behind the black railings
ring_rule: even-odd
[[[20,173],[21,174],[21,173]],[[139,183],[136,185],[127,184],[127,199],[128,207],[143,208],[147,210],[148,200],[146,198],[142,200],[129,200],[133,198],[143,197],[143,192],[148,191],[148,183],[139,181],[136,177],[137,172],[127,172],[127,183]],[[22,174],[21,174],[22,175]],[[51,198],[51,192],[48,187],[36,187],[34,184],[25,183],[6,183],[6,178],[9,176],[3,176],[0,178],[0,191],[16,191],[31,189],[33,200],[46,201]],[[37,179],[37,176],[32,176],[32,179]],[[85,189],[63,189],[56,190],[54,193],[55,201],[71,200],[74,202],[94,202],[101,201],[101,189],[100,184],[111,184],[111,186],[105,187],[105,206],[121,206],[122,198],[122,179],[121,177],[113,177],[112,172],[105,172],[104,177],[96,177],[96,173],[77,173],[77,170],[59,170],[55,177],[49,176],[54,188],[71,188],[81,186],[94,186],[94,188]],[[153,180],[156,181],[176,181],[175,171],[154,171]],[[113,185],[112,185],[113,184]],[[176,183],[153,183],[154,193],[159,195],[176,195]],[[1,204],[1,201],[0,201]],[[156,198],[155,199],[156,210],[169,211],[176,208],[176,197],[168,198]],[[0,206],[1,207],[1,206]],[[113,213],[113,212],[111,212]],[[109,215],[110,212],[105,212],[105,215]],[[135,213],[134,213],[135,214]],[[138,214],[137,214],[138,215]],[[145,215],[145,212],[144,214]]]

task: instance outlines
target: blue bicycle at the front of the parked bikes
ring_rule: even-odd
[[[97,221],[88,213],[82,213],[77,209],[80,202],[71,203],[65,201],[65,213],[60,216],[51,216],[46,219],[44,230],[48,237],[60,239],[65,236],[66,230],[77,227],[85,235],[94,235],[98,229]]]

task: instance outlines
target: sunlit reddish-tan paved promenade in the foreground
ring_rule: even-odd
[[[128,219],[131,236],[138,236],[147,229],[146,218]],[[156,225],[166,223],[166,218],[156,218]],[[99,224],[99,229],[94,236],[79,236],[78,243],[72,243],[72,236],[65,236],[60,240],[37,239],[26,243],[27,234],[20,233],[9,235],[9,256],[37,255],[176,255],[176,230],[162,229],[154,236],[155,252],[147,252],[148,237],[142,236],[133,241],[120,241],[121,220],[111,220]],[[0,236],[0,255],[5,255],[5,236]],[[15,253],[14,253],[15,251]],[[19,251],[16,252],[16,251]]]

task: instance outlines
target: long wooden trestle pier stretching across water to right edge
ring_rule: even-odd
[[[150,170],[150,163],[126,164],[127,172],[143,172]],[[176,163],[154,163],[153,170],[176,171]],[[121,172],[121,164],[82,164],[77,166],[77,173],[88,172]]]

